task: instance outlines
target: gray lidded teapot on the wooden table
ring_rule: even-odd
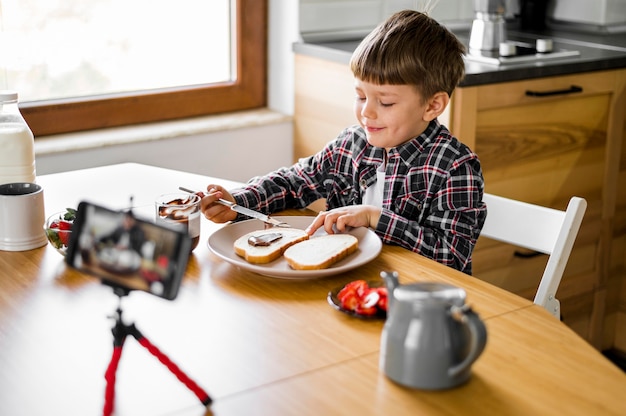
[[[443,283],[400,285],[382,272],[388,291],[380,368],[396,383],[425,390],[458,386],[487,343],[485,324],[465,291]]]

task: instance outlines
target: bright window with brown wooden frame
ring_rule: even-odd
[[[207,3],[220,2],[223,7],[219,11],[209,12],[206,8],[203,9]],[[56,5],[58,11],[61,3],[67,5],[72,2],[0,0],[0,17],[2,18],[0,31],[8,30],[9,5],[26,13],[28,6],[33,7],[33,5],[41,5],[39,6],[41,8]],[[70,43],[65,49],[65,54],[69,50],[69,56],[63,57],[63,54],[59,52],[56,54],[58,56],[49,56],[46,60],[47,64],[69,67],[68,61],[72,59],[71,54],[79,51],[79,44],[89,43],[89,47],[95,49],[96,52],[106,55],[108,50],[104,47],[105,43],[117,42],[118,50],[130,50],[131,53],[117,60],[113,59],[110,67],[123,68],[127,64],[135,66],[141,63],[147,63],[147,66],[139,71],[139,77],[134,74],[126,80],[120,78],[120,81],[112,80],[113,77],[111,77],[97,82],[101,78],[99,78],[100,72],[98,71],[88,71],[89,76],[78,76],[76,75],[78,72],[68,72],[69,80],[65,82],[66,86],[69,88],[73,85],[72,88],[75,88],[70,90],[70,97],[59,96],[62,95],[59,89],[50,85],[48,85],[49,88],[40,90],[42,91],[41,97],[44,98],[42,100],[33,99],[33,93],[26,94],[26,99],[23,99],[23,94],[20,93],[22,114],[35,136],[216,114],[266,105],[267,0],[181,0],[178,2],[161,0],[84,2],[78,0],[73,4],[76,5],[76,10],[83,13],[84,18],[90,14],[93,16],[94,13],[104,13],[104,10],[107,10],[110,16],[108,17],[109,30],[106,34],[110,37],[106,41],[90,37],[89,29],[95,29],[94,33],[102,31],[102,28],[95,23],[80,26],[79,21],[74,21],[77,26],[68,28],[71,19],[67,16],[44,13],[42,19],[45,18],[49,26],[52,26],[52,20],[57,18],[57,21],[65,23],[65,26],[58,26],[59,33],[62,30],[73,30],[73,36],[77,40],[76,44]],[[111,8],[120,5],[124,16],[114,17],[115,14],[111,12],[113,10]],[[158,20],[163,14],[160,10],[158,12],[154,10],[157,7],[170,9],[166,20]],[[193,7],[200,8],[193,9]],[[173,9],[176,9],[176,12]],[[206,19],[198,19],[197,15],[200,13],[210,14],[210,16],[204,16]],[[221,13],[222,17],[217,18],[211,24],[211,19],[215,18],[215,14],[218,13]],[[226,17],[226,14],[230,14],[230,19]],[[29,20],[25,22],[32,30],[41,27],[43,20],[37,22],[34,15],[27,14],[27,16]],[[99,21],[106,21],[106,19]],[[186,27],[206,29],[201,27],[203,22],[210,26],[210,30],[198,30],[191,33],[182,30]],[[122,27],[128,27],[133,23],[141,31],[135,32],[134,39],[124,40],[122,35],[115,37],[118,33],[115,31],[116,26],[121,32]],[[230,23],[230,25],[224,23]],[[151,41],[150,37],[146,36],[146,32],[150,30],[157,30],[159,36],[166,36],[161,38],[155,36]],[[182,36],[176,39],[175,34],[178,32]],[[6,39],[7,36],[3,38]],[[215,39],[221,49],[212,46]],[[166,53],[168,45],[164,43],[170,43],[174,49]],[[224,47],[224,45],[229,46]],[[0,51],[6,51],[8,47],[6,41],[0,41]],[[40,44],[33,41],[31,47],[37,48]],[[141,56],[139,52],[136,52],[136,48],[143,48],[147,54]],[[41,50],[42,54],[44,52]],[[140,56],[141,58],[138,58]],[[217,59],[217,56],[222,56],[223,59]],[[54,62],[57,58],[58,60]],[[133,62],[133,59],[137,60]],[[218,64],[218,61],[221,63]],[[178,64],[178,68],[176,65],[171,65],[172,62]],[[75,67],[91,64],[79,62],[79,65]],[[187,71],[186,66],[200,67],[201,70]],[[2,87],[16,89],[19,92],[20,89],[12,85],[12,82],[17,82],[15,81],[17,78],[10,79],[10,71],[3,68],[2,62],[0,62],[0,69],[4,72],[0,75],[0,85],[4,76],[4,82],[7,85],[2,85]],[[49,67],[47,70],[52,71],[52,69]],[[128,68],[123,69],[129,71]],[[72,74],[79,78],[78,82],[70,82],[77,81],[70,79]],[[180,78],[180,75],[184,78]],[[161,84],[150,84],[144,81],[158,81]],[[51,81],[49,83],[53,84]],[[106,84],[105,89],[99,89],[102,88],[100,84]],[[78,87],[75,87],[76,85]]]

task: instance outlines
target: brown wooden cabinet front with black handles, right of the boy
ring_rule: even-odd
[[[559,209],[574,195],[587,200],[557,297],[565,322],[598,348],[613,343],[605,318],[618,311],[617,297],[609,294],[623,280],[623,261],[611,245],[624,233],[613,225],[623,216],[617,196],[625,74],[460,88],[451,109],[451,131],[480,157],[487,192]],[[474,275],[532,298],[546,261],[481,239]]]

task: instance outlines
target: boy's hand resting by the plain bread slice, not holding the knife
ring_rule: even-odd
[[[381,209],[372,205],[350,205],[330,211],[320,211],[306,229],[313,235],[318,228],[324,227],[328,234],[345,232],[349,227],[376,228]]]

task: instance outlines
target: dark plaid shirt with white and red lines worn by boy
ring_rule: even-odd
[[[360,204],[376,182],[385,150],[359,126],[345,129],[322,151],[232,192],[237,203],[266,213],[304,208],[326,198],[328,209]],[[387,155],[382,213],[375,230],[440,263],[472,272],[471,254],[486,217],[478,157],[437,121]]]

